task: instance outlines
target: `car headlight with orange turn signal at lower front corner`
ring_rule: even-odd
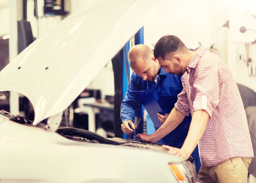
[[[172,174],[177,179],[178,183],[195,183],[196,182],[196,167],[195,162],[183,161],[180,163],[169,163]]]

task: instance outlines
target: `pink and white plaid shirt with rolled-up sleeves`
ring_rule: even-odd
[[[231,157],[253,157],[244,106],[230,69],[203,46],[194,51],[175,108],[186,116],[195,110],[209,114],[199,141],[202,166],[215,166]]]

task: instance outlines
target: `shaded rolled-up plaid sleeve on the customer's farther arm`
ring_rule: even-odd
[[[185,116],[189,116],[190,110],[189,110],[189,102],[186,94],[185,87],[183,90],[178,94],[178,100],[175,103],[174,107],[183,113]]]

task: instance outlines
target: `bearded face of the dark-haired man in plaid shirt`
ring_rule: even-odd
[[[162,58],[159,57],[157,58],[159,65],[163,67],[164,71],[166,73],[171,73],[176,76],[182,76],[185,73],[185,70],[183,69],[182,65],[180,64],[179,61],[180,58]]]

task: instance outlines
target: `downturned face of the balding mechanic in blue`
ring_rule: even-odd
[[[158,61],[155,61],[154,58],[145,61],[140,59],[134,66],[131,66],[131,69],[135,74],[139,75],[143,80],[154,81],[157,77],[159,70]]]

